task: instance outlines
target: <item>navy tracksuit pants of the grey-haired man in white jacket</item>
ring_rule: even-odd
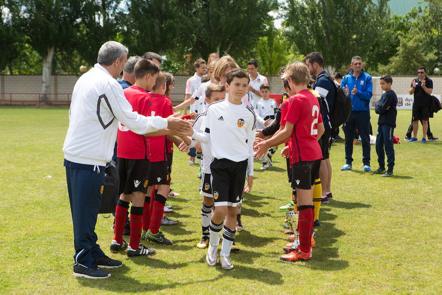
[[[69,165],[71,164],[71,165]],[[91,267],[96,258],[105,254],[97,244],[95,224],[105,185],[105,168],[95,166],[95,171],[75,167],[90,168],[91,165],[81,165],[69,162],[66,166],[66,180],[71,205],[72,221],[74,224],[74,265],[80,264]]]

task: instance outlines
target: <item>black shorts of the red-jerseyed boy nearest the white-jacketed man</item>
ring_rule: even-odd
[[[149,184],[149,160],[118,158],[120,187],[118,194],[130,195],[132,192],[147,192]]]

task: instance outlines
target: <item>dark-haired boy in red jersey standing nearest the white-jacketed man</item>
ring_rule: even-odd
[[[143,116],[151,116],[149,94],[155,84],[160,68],[148,59],[137,62],[134,68],[135,85],[124,90],[126,99],[134,111]],[[111,251],[117,252],[126,247],[128,257],[155,254],[155,250],[148,249],[140,244],[141,224],[143,218],[144,195],[147,190],[149,176],[149,148],[148,139],[130,131],[121,123],[118,126],[118,172],[120,175],[120,199],[115,208],[114,238],[111,242]],[[131,207],[131,234],[129,247],[123,240],[124,225],[129,202]]]

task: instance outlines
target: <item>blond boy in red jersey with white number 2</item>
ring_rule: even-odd
[[[287,114],[281,119],[284,129],[269,140],[256,145],[255,157],[264,155],[270,147],[282,144],[290,138],[290,164],[292,187],[296,188],[299,210],[300,247],[279,258],[284,261],[311,259],[311,233],[313,230],[313,185],[322,159],[321,147],[317,140],[324,133],[324,124],[316,97],[307,89],[310,81],[308,67],[304,62],[295,61],[287,66],[283,74],[292,93]]]

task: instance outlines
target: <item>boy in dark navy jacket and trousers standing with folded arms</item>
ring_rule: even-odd
[[[393,175],[394,166],[394,148],[393,148],[393,130],[396,127],[397,116],[397,97],[396,93],[391,90],[393,79],[390,75],[382,76],[380,79],[381,89],[385,91],[375,104],[378,119],[378,134],[376,135],[376,153],[378,154],[379,169],[376,174],[382,177]],[[385,153],[387,154],[388,170],[385,171]]]

